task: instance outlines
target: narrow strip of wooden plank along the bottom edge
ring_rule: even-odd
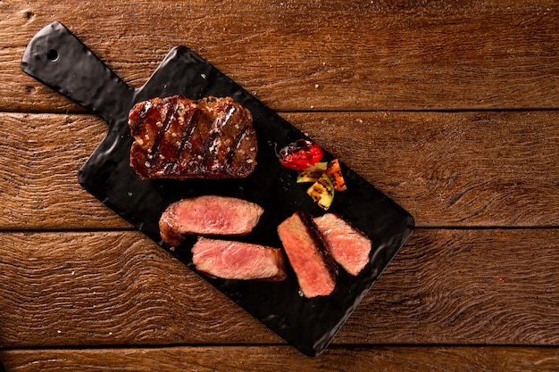
[[[0,351],[7,371],[83,372],[98,370],[153,371],[347,371],[365,372],[466,372],[556,371],[555,348],[395,347],[330,348],[319,357],[307,358],[292,349],[269,347],[169,347],[97,350]]]

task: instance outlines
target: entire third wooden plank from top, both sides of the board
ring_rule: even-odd
[[[419,229],[334,344],[559,345],[559,229]],[[136,231],[0,234],[0,346],[283,343]]]

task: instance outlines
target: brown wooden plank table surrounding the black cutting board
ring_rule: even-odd
[[[559,370],[559,2],[7,0],[0,15],[6,370]],[[413,214],[321,356],[81,189],[104,122],[20,68],[52,21],[133,87],[188,45]]]

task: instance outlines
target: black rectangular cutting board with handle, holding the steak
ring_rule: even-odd
[[[280,165],[275,149],[306,138],[186,46],[173,48],[143,87],[132,88],[113,73],[63,24],[54,22],[30,41],[21,69],[103,118],[108,133],[79,170],[79,184],[146,236],[194,269],[188,237],[172,252],[159,236],[161,213],[172,202],[200,194],[235,196],[259,203],[263,217],[239,240],[280,247],[276,227],[295,211],[324,213],[296,183],[296,171]],[[134,103],[169,95],[197,99],[231,96],[248,108],[258,136],[257,165],[248,178],[142,180],[129,166],[128,112]],[[87,141],[88,138],[84,138]],[[331,159],[330,153],[325,154]],[[342,165],[347,191],[337,193],[329,211],[339,213],[371,238],[371,262],[357,277],[340,269],[330,296],[306,299],[296,277],[278,283],[211,279],[209,283],[306,355],[320,354],[413,231],[412,216],[353,170]]]

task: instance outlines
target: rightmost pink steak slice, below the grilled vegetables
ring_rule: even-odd
[[[314,219],[330,255],[349,274],[356,276],[369,263],[371,240],[335,213]]]

